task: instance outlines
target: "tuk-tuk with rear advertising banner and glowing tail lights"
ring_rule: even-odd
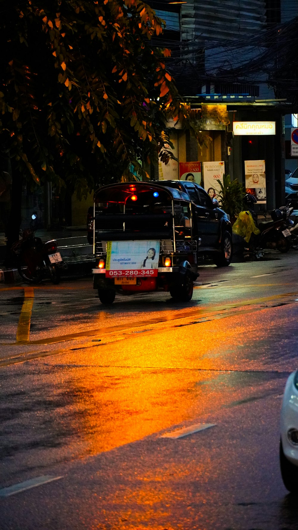
[[[94,289],[102,304],[116,293],[193,295],[197,245],[187,193],[156,182],[110,184],[94,195]]]

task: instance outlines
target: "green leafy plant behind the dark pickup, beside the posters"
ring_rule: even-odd
[[[233,224],[239,211],[242,210],[245,189],[237,179],[231,180],[230,175],[223,174],[223,181],[219,180],[218,183],[220,189],[216,191],[220,207],[230,216],[230,221]]]

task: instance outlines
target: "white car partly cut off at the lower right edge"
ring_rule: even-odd
[[[279,463],[286,489],[298,492],[298,370],[288,377],[285,386]]]

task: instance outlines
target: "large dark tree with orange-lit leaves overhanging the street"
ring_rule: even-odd
[[[140,0],[2,2],[0,138],[12,163],[10,244],[19,238],[22,179],[84,195],[168,160],[166,118],[177,90],[152,48],[162,21]],[[17,208],[16,208],[17,206]],[[19,211],[18,210],[18,211]]]

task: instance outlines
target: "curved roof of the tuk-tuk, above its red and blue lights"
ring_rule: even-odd
[[[134,189],[133,189],[134,188]],[[94,201],[98,200],[98,194],[111,191],[111,195],[114,191],[123,191],[124,193],[133,193],[138,192],[142,193],[145,191],[155,191],[155,190],[164,190],[168,193],[171,199],[183,200],[190,202],[190,199],[184,191],[180,191],[177,188],[172,188],[164,184],[160,185],[158,181],[149,181],[149,182],[118,182],[115,184],[107,184],[102,186],[94,193]]]

